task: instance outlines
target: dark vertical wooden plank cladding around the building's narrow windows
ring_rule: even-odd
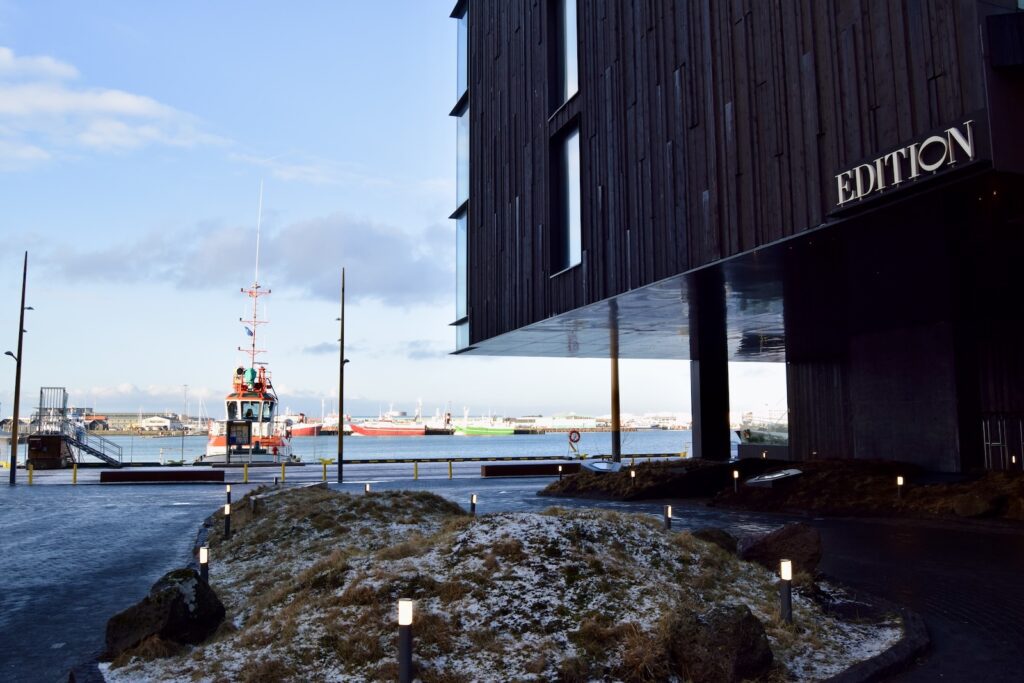
[[[552,116],[546,0],[469,0],[476,342],[815,227],[834,174],[985,106],[976,0],[578,0]],[[582,267],[551,268],[579,125]]]

